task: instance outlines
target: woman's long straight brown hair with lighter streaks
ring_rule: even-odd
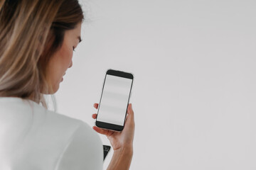
[[[0,1],[0,96],[29,98],[47,108],[48,61],[65,30],[82,22],[78,0]]]

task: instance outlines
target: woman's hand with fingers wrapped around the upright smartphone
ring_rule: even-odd
[[[95,108],[98,108],[99,104],[95,103],[93,106]],[[97,118],[97,114],[92,114],[92,118]],[[124,129],[121,132],[105,130],[96,126],[93,127],[96,132],[107,136],[114,149],[114,152],[122,149],[132,149],[132,143],[134,140],[134,128],[134,111],[132,110],[131,103],[129,104],[127,109],[127,119],[124,124]]]

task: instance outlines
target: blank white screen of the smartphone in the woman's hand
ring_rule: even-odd
[[[97,121],[124,125],[132,79],[107,74]]]

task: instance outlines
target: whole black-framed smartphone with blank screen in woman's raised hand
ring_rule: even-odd
[[[97,108],[97,127],[114,131],[124,129],[133,79],[131,73],[107,70]]]

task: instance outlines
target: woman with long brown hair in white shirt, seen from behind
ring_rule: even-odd
[[[77,0],[0,1],[0,169],[102,169],[96,132],[114,149],[108,169],[129,169],[131,104],[122,132],[93,127],[95,132],[81,120],[48,111],[43,98],[58,91],[72,67],[82,19]]]

